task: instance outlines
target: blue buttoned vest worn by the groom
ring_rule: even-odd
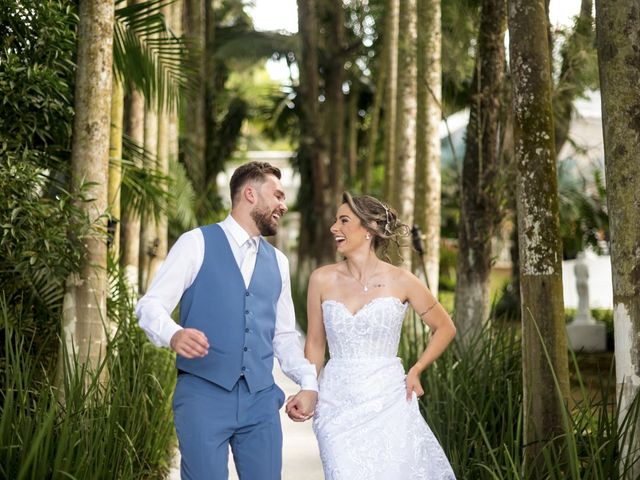
[[[180,301],[180,324],[202,331],[209,353],[176,357],[178,369],[231,391],[244,376],[251,393],[273,384],[273,335],[282,278],[275,249],[260,239],[251,283],[240,267],[222,227],[201,227],[204,260]]]

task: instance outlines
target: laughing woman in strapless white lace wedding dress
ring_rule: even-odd
[[[406,234],[395,212],[370,196],[343,195],[331,226],[345,260],[309,279],[306,357],[320,371],[313,429],[328,480],[454,479],[418,408],[420,375],[453,340],[451,318],[410,272],[380,258]],[[431,340],[405,377],[396,356],[407,306]],[[300,420],[297,412],[289,416]]]

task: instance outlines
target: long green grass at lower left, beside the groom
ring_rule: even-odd
[[[55,383],[40,371],[49,359],[28,353],[35,338],[14,328],[19,313],[0,302],[0,477],[164,478],[174,445],[173,355],[135,326],[121,277],[112,275],[111,288],[118,329],[104,360],[96,372],[62,362]]]

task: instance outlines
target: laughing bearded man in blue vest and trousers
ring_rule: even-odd
[[[292,418],[315,408],[315,367],[295,330],[289,263],[263,236],[287,211],[280,170],[250,162],[231,177],[231,214],[175,243],[136,306],[140,326],[177,353],[173,399],[183,480],[228,478],[229,445],[241,480],[277,480],[282,467],[273,357],[301,387]],[[170,317],[180,302],[180,325]]]

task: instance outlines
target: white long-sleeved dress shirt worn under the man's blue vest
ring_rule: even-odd
[[[229,215],[218,225],[222,227],[238,266],[247,253],[249,234]],[[259,245],[259,244],[258,244]],[[259,248],[259,246],[258,246]],[[276,260],[282,278],[282,291],[276,306],[273,352],[282,371],[303,390],[318,391],[316,368],[304,357],[300,334],[296,330],[291,299],[289,260],[276,249]],[[204,237],[199,228],[184,233],[173,245],[156,273],[147,293],[136,305],[140,327],[151,342],[168,347],[171,337],[182,327],[171,318],[184,291],[191,286],[204,261]],[[255,267],[255,261],[253,262]],[[251,269],[253,273],[253,268]],[[214,308],[215,305],[212,305]]]

